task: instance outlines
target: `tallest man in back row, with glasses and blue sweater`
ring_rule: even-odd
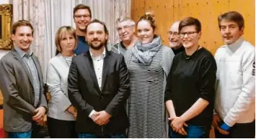
[[[85,6],[84,4],[79,4],[74,7],[73,10],[74,23],[76,24],[76,35],[78,38],[78,44],[74,53],[76,55],[87,52],[89,47],[85,40],[85,29],[89,24],[89,21],[92,19],[92,12],[89,6]]]

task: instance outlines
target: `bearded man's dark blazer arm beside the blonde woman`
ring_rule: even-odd
[[[76,57],[74,57],[76,58]],[[69,77],[68,77],[68,92],[69,92],[69,100],[77,110],[81,110],[89,116],[90,112],[92,112],[93,107],[89,105],[82,97],[79,92],[79,82],[78,82],[78,69],[76,67],[76,59],[72,60],[71,66],[69,68]]]

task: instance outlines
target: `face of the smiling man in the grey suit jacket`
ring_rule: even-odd
[[[32,29],[28,26],[17,27],[15,34],[12,34],[15,45],[25,52],[30,50],[33,39]]]

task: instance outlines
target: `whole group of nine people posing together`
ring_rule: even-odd
[[[43,74],[30,51],[33,27],[13,24],[14,49],[0,62],[4,130],[36,138],[47,113],[50,138],[255,137],[255,47],[242,39],[237,11],[219,15],[225,45],[215,57],[199,44],[198,19],[175,21],[169,47],[156,34],[154,15],[116,21],[120,42],[107,49],[108,30],[89,6],[74,7],[76,29],[56,32],[47,103]]]

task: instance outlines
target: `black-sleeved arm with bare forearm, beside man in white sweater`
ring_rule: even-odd
[[[188,109],[181,118],[185,121],[195,118],[207,107],[209,102],[213,102],[215,96],[216,82],[216,62],[213,58],[203,59],[200,68],[200,98]]]

